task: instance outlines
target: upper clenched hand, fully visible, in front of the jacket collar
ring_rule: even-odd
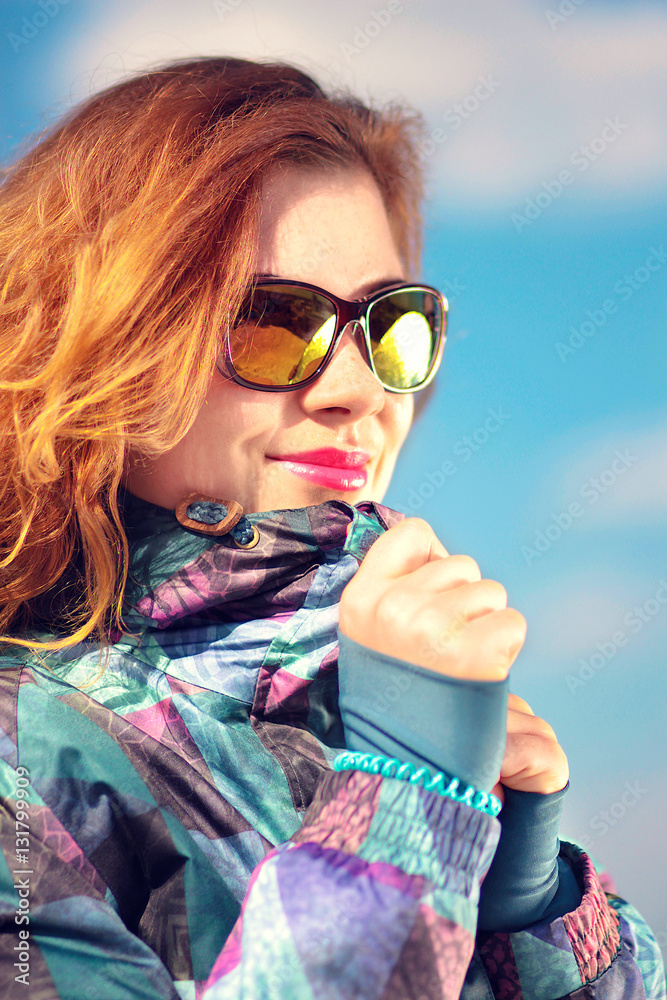
[[[379,653],[477,681],[504,680],[526,637],[502,584],[482,580],[470,556],[450,556],[414,517],[369,549],[341,596],[339,628]]]

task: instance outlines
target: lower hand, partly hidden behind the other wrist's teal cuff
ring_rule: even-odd
[[[508,695],[505,757],[493,794],[504,802],[505,785],[518,792],[549,795],[565,788],[569,776],[565,751],[549,723],[535,715],[523,698]]]

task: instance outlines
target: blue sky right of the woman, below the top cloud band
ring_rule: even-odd
[[[497,213],[450,210],[431,225],[426,274],[457,290],[450,342],[387,502],[425,517],[450,552],[472,554],[526,616],[511,686],[568,753],[564,830],[594,847],[657,932],[667,927],[655,879],[667,818],[667,607],[655,598],[667,593],[665,282],[655,271],[628,297],[625,275],[660,248],[665,216],[659,205],[579,207],[583,219],[554,205],[521,234]],[[610,297],[618,310],[605,319]],[[555,345],[588,311],[601,325],[562,361]],[[487,423],[489,411],[501,419]],[[650,794],[621,816],[638,780]],[[610,809],[613,826],[601,818]]]

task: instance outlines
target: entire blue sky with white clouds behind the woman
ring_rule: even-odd
[[[423,274],[449,338],[386,502],[525,614],[512,687],[568,753],[565,829],[667,945],[664,4],[53,4],[0,6],[3,157],[187,55],[282,58],[424,113]]]

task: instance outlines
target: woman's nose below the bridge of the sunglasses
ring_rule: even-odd
[[[380,412],[385,390],[366,361],[363,330],[357,320],[347,324],[333,358],[300,396],[309,416],[331,414],[352,423]]]

